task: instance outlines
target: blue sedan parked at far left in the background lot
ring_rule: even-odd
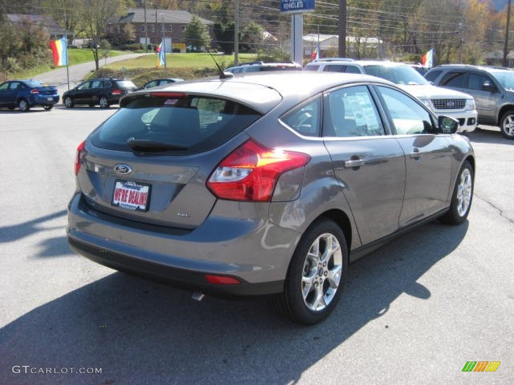
[[[28,111],[33,106],[51,110],[59,102],[59,91],[38,80],[10,80],[0,84],[0,107],[18,107]]]

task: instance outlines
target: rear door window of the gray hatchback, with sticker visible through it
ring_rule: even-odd
[[[375,102],[366,86],[341,88],[329,93],[323,108],[324,137],[384,135]]]

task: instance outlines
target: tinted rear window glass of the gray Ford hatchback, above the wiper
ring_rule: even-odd
[[[260,117],[245,105],[221,98],[170,92],[138,95],[98,127],[91,141],[122,151],[133,150],[131,142],[148,141],[161,144],[149,152],[183,155],[216,148]]]

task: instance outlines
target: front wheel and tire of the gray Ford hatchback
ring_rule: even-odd
[[[473,199],[473,184],[473,168],[471,164],[466,161],[458,172],[450,207],[447,213],[440,218],[442,222],[458,225],[466,220]]]

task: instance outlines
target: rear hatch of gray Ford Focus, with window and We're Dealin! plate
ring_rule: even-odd
[[[274,90],[268,96],[278,99]],[[198,226],[216,201],[207,178],[232,150],[230,139],[262,112],[222,97],[164,91],[131,94],[121,107],[79,148],[85,202],[137,223]]]

